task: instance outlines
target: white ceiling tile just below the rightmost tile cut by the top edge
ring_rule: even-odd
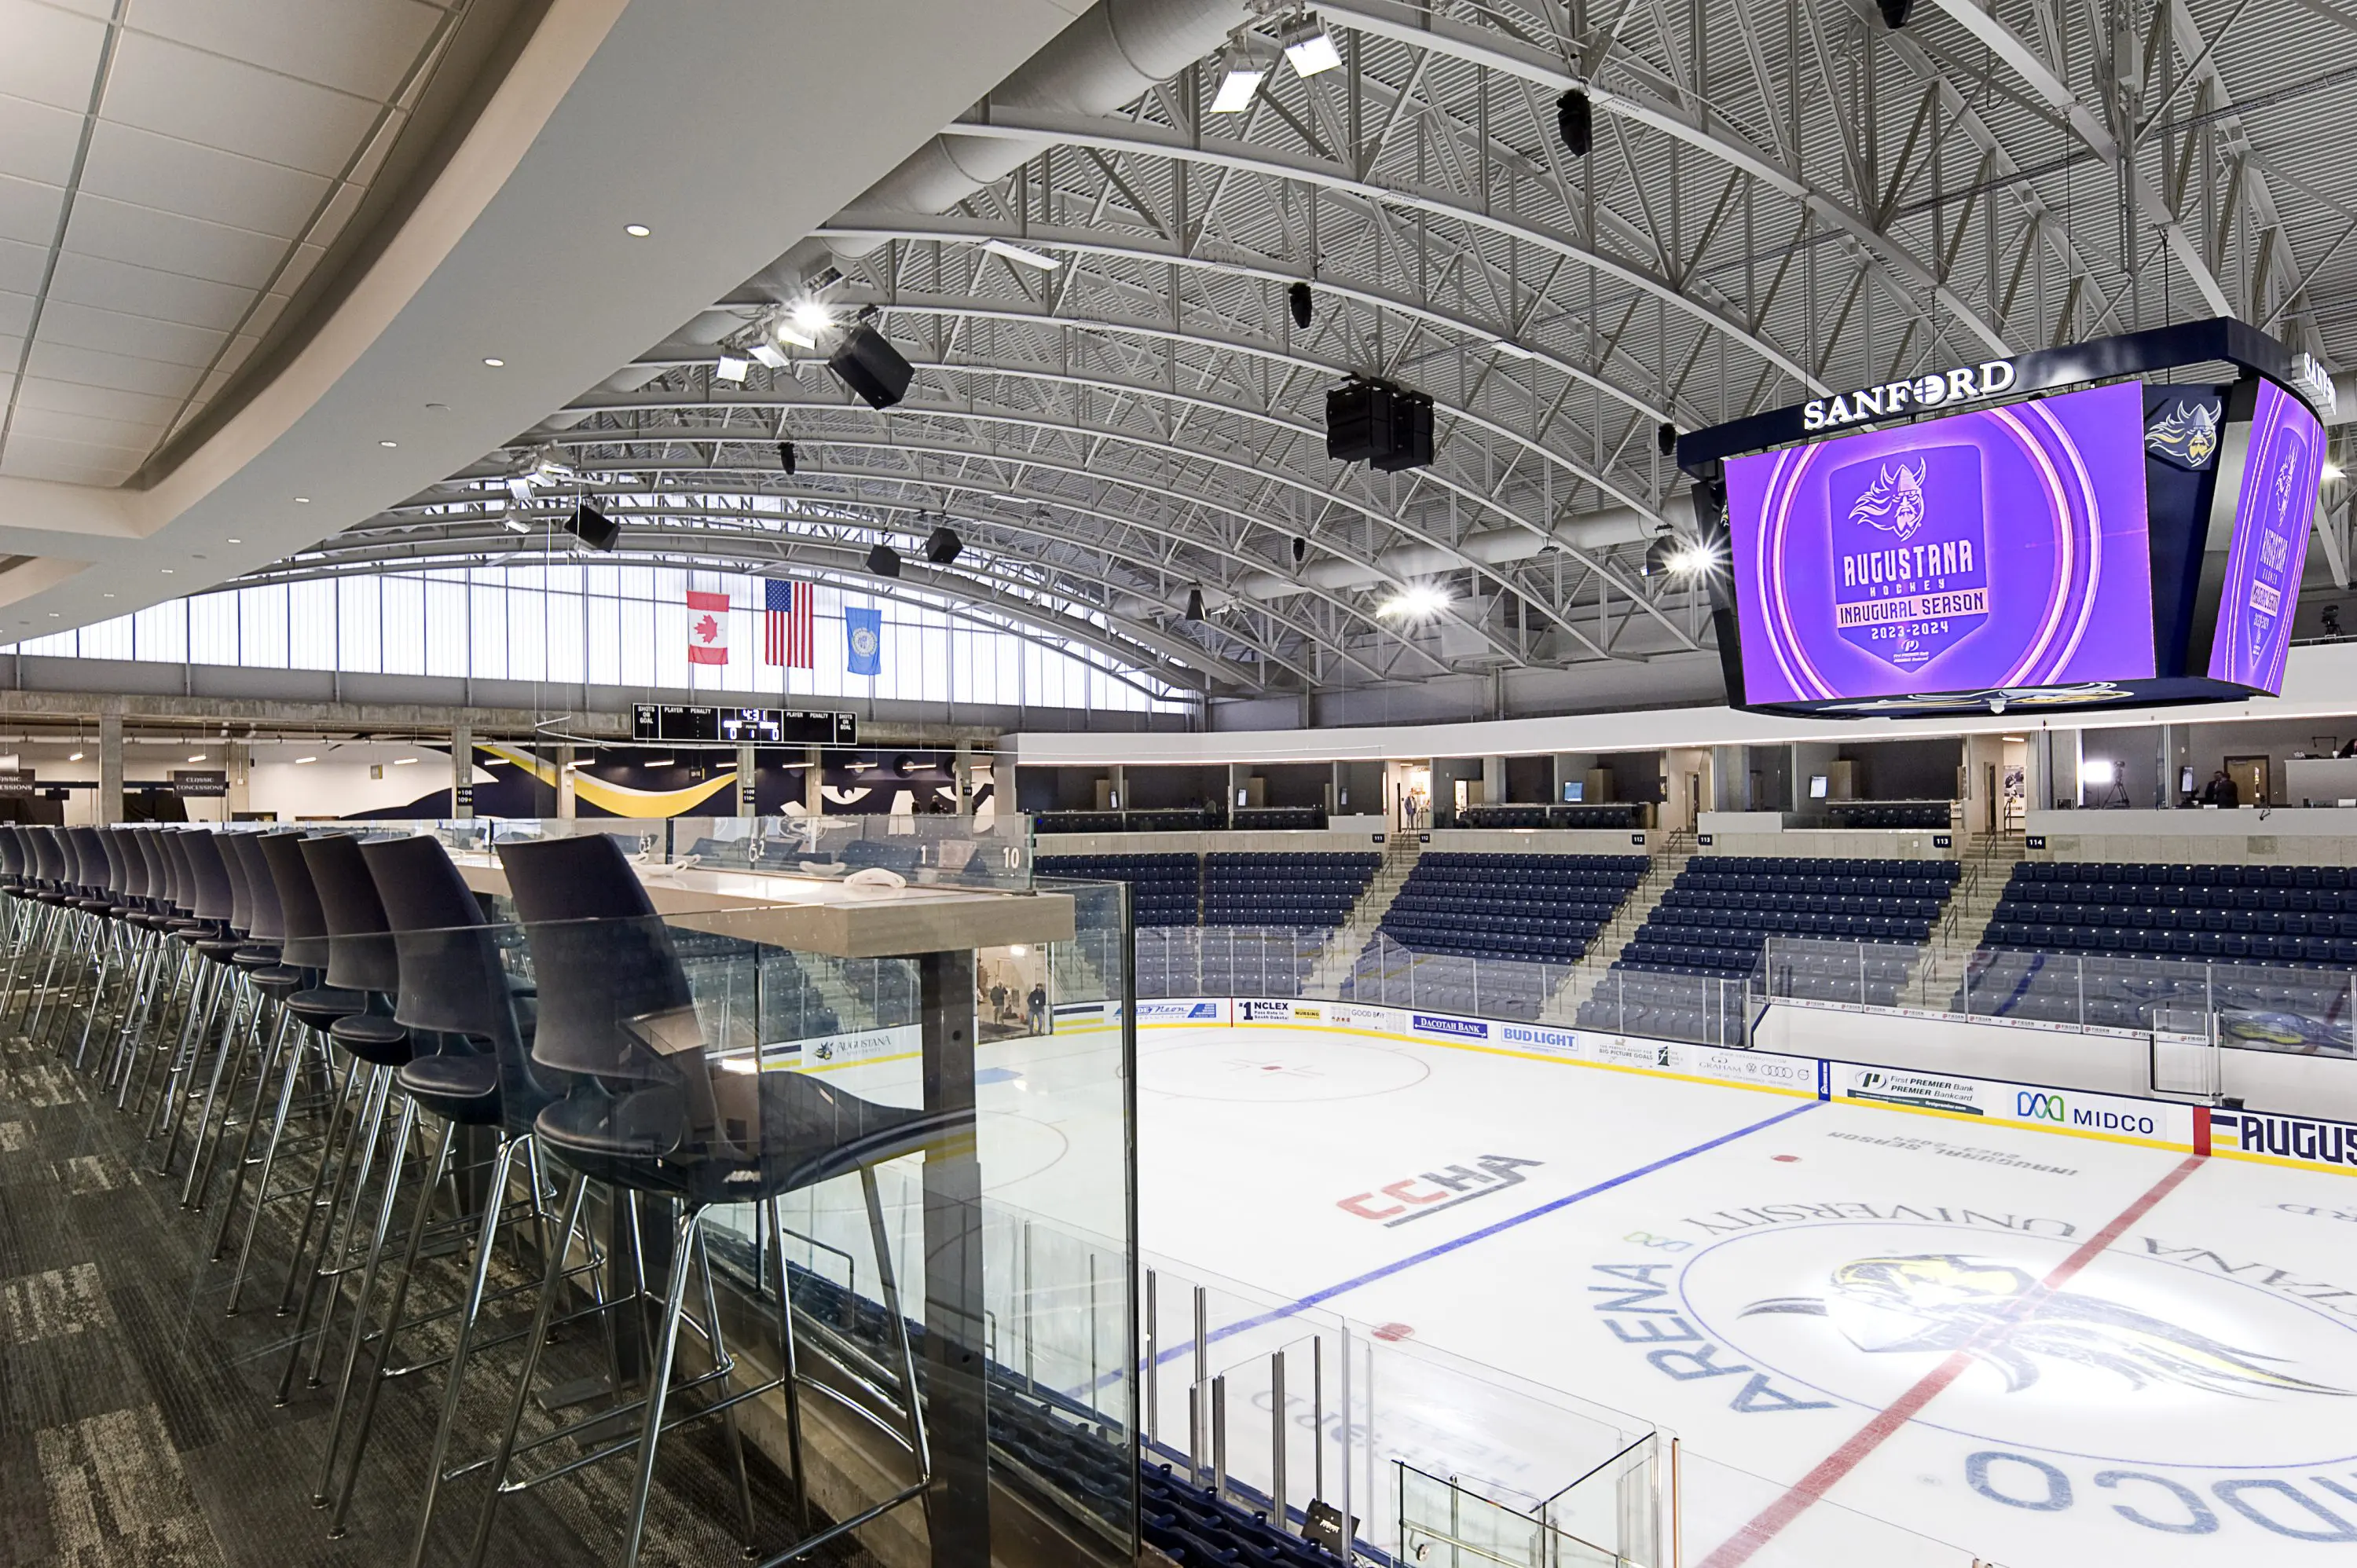
[[[337,174],[377,118],[368,99],[146,33],[115,47],[106,118],[264,163]]]

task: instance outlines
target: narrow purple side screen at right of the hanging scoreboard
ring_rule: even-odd
[[[2258,384],[2251,441],[2234,498],[2234,540],[2225,554],[2213,681],[2277,696],[2291,655],[2291,611],[2308,571],[2308,526],[2324,479],[2324,427],[2308,403],[2275,382]]]

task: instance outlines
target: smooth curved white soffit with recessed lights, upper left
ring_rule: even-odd
[[[502,446],[771,264],[1082,9],[552,0],[365,276],[177,469],[146,490],[0,474],[0,554],[92,564],[7,604],[0,637],[236,578]]]

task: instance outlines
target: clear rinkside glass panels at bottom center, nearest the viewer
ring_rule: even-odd
[[[1148,1462],[1398,1568],[1970,1568],[1975,1554],[1697,1455],[1643,1417],[1162,1257],[1141,1280]],[[1796,1452],[1794,1476],[1817,1455]]]

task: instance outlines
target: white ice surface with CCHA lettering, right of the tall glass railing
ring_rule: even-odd
[[[1718,1488],[1685,1563],[1791,1561],[1838,1514],[1796,1509],[1803,1478],[2008,1568],[2357,1547],[2345,1177],[1301,1026],[1150,1028],[1138,1056],[1150,1261],[1761,1478]],[[1426,1469],[1577,1474],[1513,1422],[1431,1417],[1468,1452]]]

